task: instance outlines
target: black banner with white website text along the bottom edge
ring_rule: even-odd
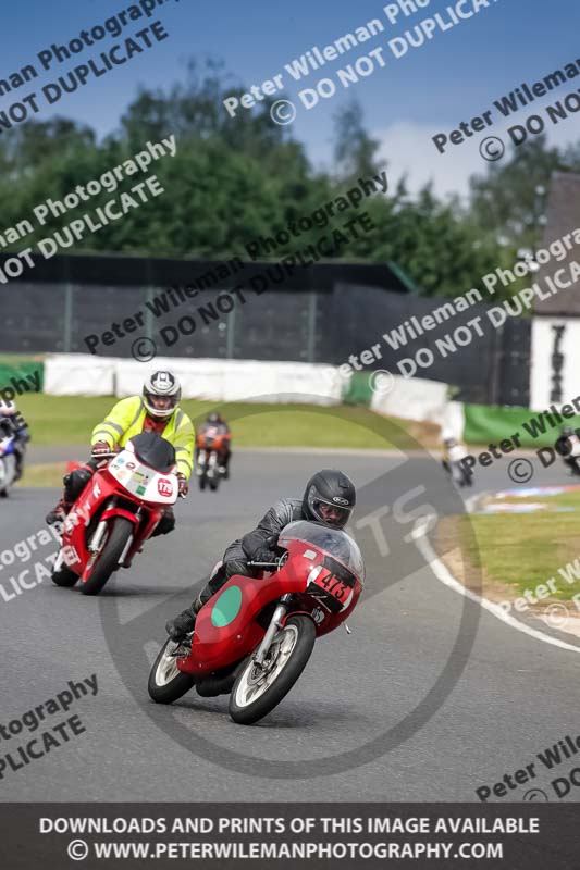
[[[0,804],[5,870],[579,866],[575,804]]]

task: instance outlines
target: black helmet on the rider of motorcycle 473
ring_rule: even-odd
[[[303,511],[308,520],[344,529],[357,504],[353,481],[336,469],[317,471],[308,483],[303,499]]]

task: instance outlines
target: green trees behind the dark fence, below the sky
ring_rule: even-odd
[[[62,199],[76,185],[132,157],[148,140],[171,134],[177,140],[176,157],[160,160],[150,170],[166,192],[88,236],[76,252],[244,257],[244,246],[256,236],[271,235],[344,192],[359,177],[385,169],[378,157],[380,142],[367,133],[356,102],[335,116],[334,171],[329,174],[316,171],[289,129],[272,122],[273,100],[230,117],[222,101],[242,92],[229,86],[219,64],[199,67],[192,62],[183,83],[166,91],[140,90],[119,129],[101,142],[90,128],[62,117],[33,121],[2,134],[0,233],[29,217],[47,197]],[[533,246],[542,229],[540,191],[547,188],[554,170],[565,169],[580,171],[580,147],[560,153],[536,137],[502,165],[488,164],[485,174],[472,179],[468,203],[443,202],[429,186],[411,198],[404,179],[388,177],[387,195],[377,195],[362,206],[377,229],[353,239],[341,256],[391,261],[427,295],[464,294],[479,286],[486,272],[513,265],[518,248]],[[129,186],[127,181],[122,189]],[[90,200],[86,210],[113,196]],[[74,216],[79,215],[52,219],[27,244]],[[317,241],[325,232],[314,227],[292,238],[287,250],[279,249],[275,258]]]

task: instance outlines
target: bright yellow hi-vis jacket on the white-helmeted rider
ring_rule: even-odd
[[[124,447],[129,438],[143,432],[146,417],[147,409],[140,396],[121,399],[111,409],[102,423],[98,423],[95,426],[90,444],[106,442],[111,448],[115,444]],[[194,470],[195,431],[194,424],[185,411],[177,407],[169,418],[161,435],[175,448],[178,471],[186,478],[189,477]]]

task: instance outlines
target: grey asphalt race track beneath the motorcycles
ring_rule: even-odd
[[[356,481],[359,521],[391,508],[380,540],[368,523],[355,529],[368,582],[350,620],[353,635],[340,630],[322,638],[293,692],[257,726],[235,725],[226,698],[203,699],[195,691],[173,707],[150,703],[148,661],[166,618],[192,600],[192,588],[230,540],[275,498],[299,494],[307,476],[329,462]],[[474,492],[513,486],[506,471],[506,461],[482,470]],[[535,482],[569,480],[554,467],[536,470]],[[416,487],[424,490],[409,500],[405,494]],[[51,489],[17,489],[0,504],[0,551],[37,533],[55,497]],[[70,680],[96,673],[99,686],[69,712],[86,731],[21,770],[4,770],[0,800],[469,801],[477,787],[577,735],[570,699],[578,654],[514,631],[444,586],[409,535],[410,507],[421,502],[440,517],[461,509],[427,455],[323,460],[296,451],[238,452],[232,480],[218,494],[193,490],[178,505],[177,530],[151,542],[99,598],[47,580],[0,600],[0,723],[47,701]],[[36,558],[51,549],[42,547]],[[0,583],[14,573],[3,567]],[[0,741],[0,751],[17,743]],[[547,793],[560,775],[538,773],[504,799],[521,800],[531,787]]]

